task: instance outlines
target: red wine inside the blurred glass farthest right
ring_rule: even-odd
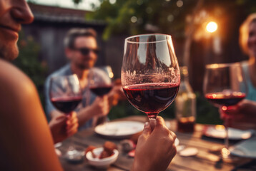
[[[205,98],[215,105],[230,106],[236,105],[246,96],[242,92],[229,92],[229,93],[207,93]]]

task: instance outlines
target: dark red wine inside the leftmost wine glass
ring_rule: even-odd
[[[68,115],[77,108],[81,100],[81,96],[74,98],[51,98],[51,103],[55,108]]]

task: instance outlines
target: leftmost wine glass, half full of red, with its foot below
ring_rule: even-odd
[[[75,74],[51,78],[49,90],[51,103],[66,115],[70,115],[82,100],[82,90],[79,79]],[[65,157],[70,161],[76,161],[80,160],[82,155],[82,152],[74,148],[73,141],[71,140]]]

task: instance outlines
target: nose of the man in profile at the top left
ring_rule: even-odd
[[[30,24],[34,21],[34,15],[25,0],[16,1],[11,9],[11,16],[20,24]]]

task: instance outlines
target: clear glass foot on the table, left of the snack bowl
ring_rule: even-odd
[[[64,158],[69,162],[82,162],[84,160],[84,150],[68,150]]]

